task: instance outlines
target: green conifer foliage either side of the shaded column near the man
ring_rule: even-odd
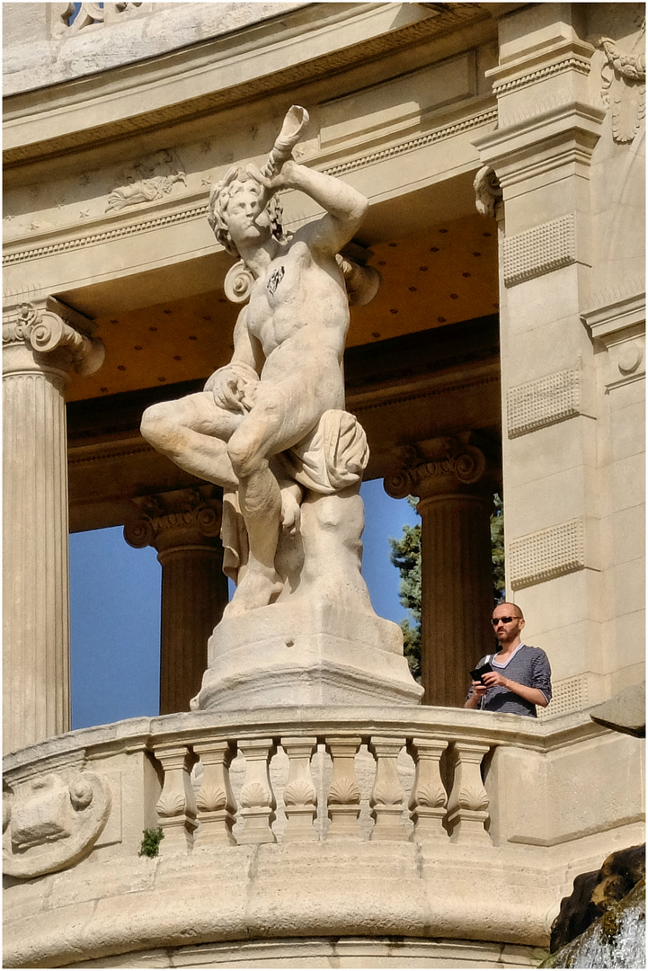
[[[418,499],[408,496],[407,502],[416,509]],[[493,560],[493,598],[496,604],[504,599],[504,518],[502,497],[493,496],[491,516],[491,550]],[[400,539],[390,537],[389,558],[401,574],[400,596],[409,617],[401,620],[403,646],[409,670],[421,681],[421,524],[403,527]]]

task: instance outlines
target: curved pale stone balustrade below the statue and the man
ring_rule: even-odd
[[[151,827],[161,827],[165,855],[338,839],[501,845],[510,820],[502,818],[500,790],[516,787],[511,768],[521,785],[530,772],[543,772],[549,741],[564,722],[569,738],[601,731],[583,714],[540,721],[442,708],[333,707],[253,717],[187,713],[70,732],[5,759],[5,872],[22,879],[48,872],[37,861],[57,842],[62,856],[51,869],[74,865],[104,845],[101,834],[110,834],[117,805],[112,855],[120,845],[130,853]],[[64,862],[83,814],[61,823],[52,840],[60,798],[44,802],[44,792],[72,790],[90,777],[112,791],[113,810],[109,798],[84,852]],[[546,798],[536,789],[538,802]],[[130,818],[124,806],[133,808]],[[20,823],[16,836],[15,820],[30,815],[38,825],[32,832]],[[533,843],[537,834],[515,839]]]

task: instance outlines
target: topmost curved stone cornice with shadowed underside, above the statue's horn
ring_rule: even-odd
[[[61,106],[68,99],[65,108],[58,107],[56,101],[52,104],[49,99],[47,110],[34,113],[33,93],[29,97],[10,97],[6,99],[5,169],[131,138],[145,131],[168,129],[180,121],[213,115],[243,102],[357,68],[364,60],[405,50],[453,28],[488,19],[478,4],[445,7],[435,17],[410,19],[397,28],[392,27],[391,4],[360,5],[359,10],[349,12],[345,8],[341,13],[334,10],[309,30],[308,45],[304,43],[303,24],[300,27],[298,20],[298,26],[291,25],[300,14],[298,10],[292,18],[284,18],[287,26],[281,35],[275,33],[271,43],[265,35],[256,40],[245,40],[242,36],[239,42],[243,47],[233,51],[231,38],[227,41],[218,38],[174,51],[162,61],[151,58],[135,67],[114,68],[104,72],[99,81],[94,77],[58,85],[52,94]],[[420,12],[405,13],[407,17],[420,17]],[[243,80],[227,84],[230,66],[235,60],[237,74]],[[285,66],[277,70],[277,63]],[[164,77],[159,77],[160,71],[165,72]],[[178,74],[187,80],[191,77],[195,94],[175,102],[167,87],[172,81],[177,83]],[[102,86],[110,93],[104,93]],[[121,90],[117,93],[119,87]],[[142,111],[142,105],[146,105],[146,111]],[[92,124],[87,123],[90,110]],[[58,123],[53,124],[56,118]],[[37,138],[37,130],[43,131],[46,122],[57,133],[49,138]]]

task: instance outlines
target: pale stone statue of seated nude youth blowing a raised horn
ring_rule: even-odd
[[[214,654],[236,644],[243,651],[273,632],[283,652],[294,649],[279,668],[294,667],[300,609],[309,617],[301,629],[311,645],[313,622],[320,634],[343,641],[349,622],[356,623],[351,618],[371,617],[390,628],[386,641],[384,630],[380,635],[381,653],[403,653],[400,629],[376,618],[360,572],[358,492],[369,450],[364,430],[344,411],[345,274],[354,277],[352,291],[362,286],[339,253],[368,202],[350,185],[294,161],[307,123],[305,109],[293,106],[263,170],[233,166],[211,189],[211,227],[243,261],[249,282],[234,353],[203,391],[153,405],[142,421],[142,434],[159,452],[224,490],[225,569],[238,586],[211,638],[210,667]],[[276,192],[284,188],[307,193],[325,210],[292,236],[280,225]],[[366,271],[371,295],[375,276]],[[216,679],[221,688],[223,677],[221,671]],[[421,689],[407,687],[417,700]],[[201,707],[211,704],[205,691],[204,683]]]

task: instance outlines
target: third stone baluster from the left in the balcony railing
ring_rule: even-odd
[[[237,842],[276,843],[272,829],[276,802],[269,772],[275,743],[272,738],[246,738],[239,742],[239,749],[245,756],[245,781],[239,797],[245,826]]]

